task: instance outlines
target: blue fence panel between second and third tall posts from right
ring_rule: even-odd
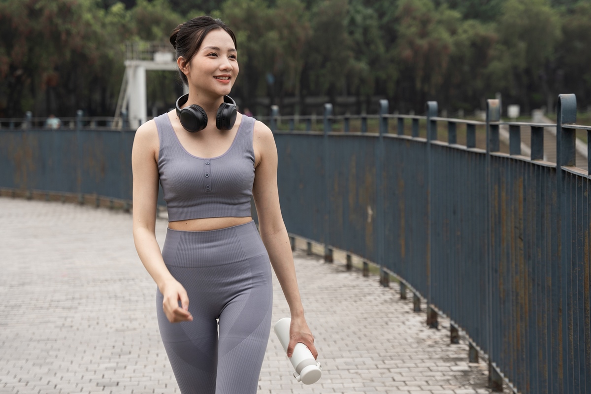
[[[488,349],[486,158],[433,145],[432,302]]]

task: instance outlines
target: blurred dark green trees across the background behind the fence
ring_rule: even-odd
[[[375,112],[376,97],[470,112],[497,92],[522,112],[558,93],[591,105],[589,0],[2,0],[0,117],[113,116],[126,41],[167,43],[203,14],[236,32],[232,94],[256,115]],[[149,112],[182,91],[170,71],[147,80]]]

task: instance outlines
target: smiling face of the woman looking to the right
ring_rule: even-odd
[[[238,76],[238,60],[232,37],[222,29],[207,33],[199,50],[183,72],[189,86],[199,93],[228,95]]]

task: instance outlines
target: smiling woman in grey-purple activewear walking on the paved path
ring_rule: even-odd
[[[135,247],[158,285],[158,326],[181,392],[255,393],[271,328],[271,265],[291,312],[287,355],[301,342],[317,357],[281,217],[277,149],[269,128],[226,96],[238,76],[232,30],[198,17],[170,42],[189,95],[135,135]],[[159,180],[169,220],[162,252]]]

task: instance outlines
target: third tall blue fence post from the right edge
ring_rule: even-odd
[[[433,121],[432,118],[437,116],[437,102],[427,102],[427,174],[428,174],[428,186],[427,186],[427,325],[431,328],[437,328],[439,323],[437,322],[437,312],[432,308],[432,295],[431,295],[431,269],[433,268],[433,154],[432,142],[437,139],[437,121]]]

